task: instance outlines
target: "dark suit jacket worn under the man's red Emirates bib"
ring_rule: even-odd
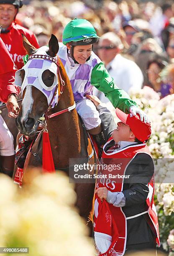
[[[105,110],[100,114],[102,120],[102,130],[105,142],[110,138],[111,133],[117,127],[113,120],[113,116]],[[101,113],[99,109],[99,113]],[[111,146],[111,145],[110,145]],[[148,209],[146,199],[148,196],[148,182],[154,174],[154,163],[151,156],[145,153],[139,153],[128,165],[125,175],[130,175],[128,183],[123,184],[123,194],[125,195],[125,206],[122,207],[126,217],[137,215]],[[154,240],[152,234],[150,218],[148,213],[140,215],[136,218],[127,220],[127,245],[137,243],[148,243]]]

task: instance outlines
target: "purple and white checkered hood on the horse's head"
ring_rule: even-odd
[[[46,53],[47,50],[49,50],[49,47],[47,46],[42,46],[41,48],[39,48],[38,51],[35,54],[33,54],[34,56],[36,56],[36,58],[34,57],[34,59],[29,59],[26,65],[22,68],[25,70],[25,77],[24,77],[23,83],[20,77],[20,70],[22,69],[19,69],[15,73],[15,84],[17,86],[21,86],[22,94],[23,94],[23,90],[26,88],[27,85],[36,87],[38,90],[44,93],[49,105],[54,95],[54,92],[56,90],[58,79],[57,79],[57,65],[50,60],[50,56]],[[48,56],[48,59],[40,59],[39,57],[40,55],[46,55]],[[56,58],[57,57],[52,59],[56,59]],[[42,81],[42,74],[46,69],[49,69],[52,73],[54,73],[54,83],[51,87],[47,87]],[[57,102],[58,102],[58,93],[54,97],[51,108],[54,108]]]

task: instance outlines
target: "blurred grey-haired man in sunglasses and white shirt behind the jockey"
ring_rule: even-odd
[[[120,38],[113,32],[105,33],[99,41],[99,57],[104,62],[110,76],[113,77],[118,88],[129,92],[130,88],[141,89],[143,84],[143,74],[137,64],[126,59],[120,53],[123,44]],[[95,90],[95,95],[101,94]],[[102,96],[103,101],[103,96]],[[106,102],[104,100],[104,102]]]

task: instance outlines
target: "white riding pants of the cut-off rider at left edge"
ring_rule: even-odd
[[[0,155],[12,156],[14,154],[13,135],[0,115]]]

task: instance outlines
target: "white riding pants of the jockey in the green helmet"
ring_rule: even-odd
[[[76,110],[82,118],[87,130],[96,128],[100,125],[101,119],[94,103],[89,99],[83,99],[76,102]]]

